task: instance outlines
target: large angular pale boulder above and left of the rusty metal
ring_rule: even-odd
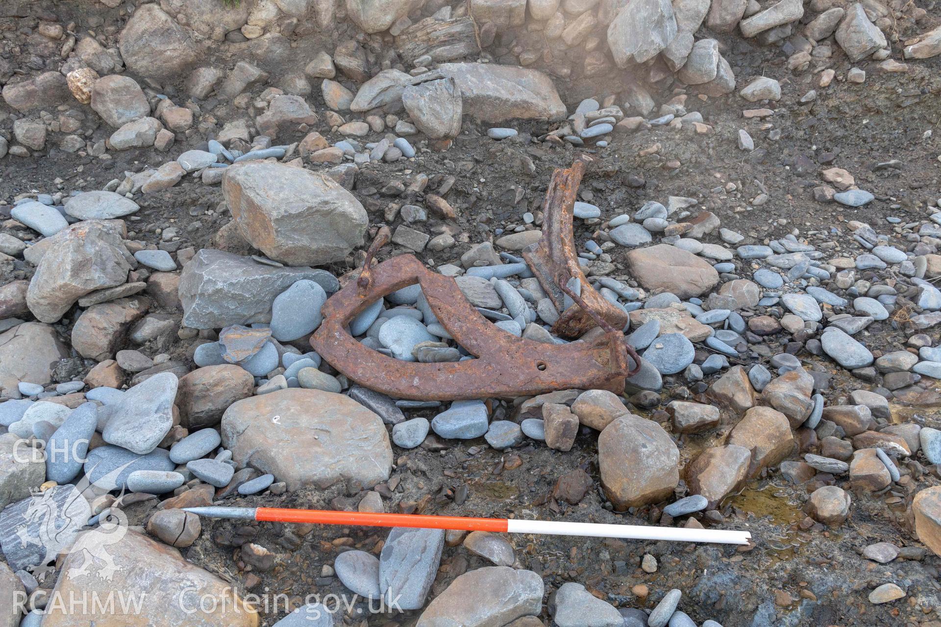
[[[290,165],[231,165],[222,193],[248,243],[288,265],[342,261],[369,225],[366,210],[343,185]]]

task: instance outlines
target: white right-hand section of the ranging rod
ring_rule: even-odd
[[[684,529],[671,526],[600,525],[597,523],[566,523],[527,521],[511,518],[506,530],[510,533],[538,533],[552,536],[595,536],[633,540],[666,540],[680,542],[712,542],[748,544],[752,534],[725,529]]]

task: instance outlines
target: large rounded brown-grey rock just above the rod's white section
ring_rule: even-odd
[[[601,487],[618,511],[673,494],[678,462],[677,445],[653,420],[623,415],[598,436]]]

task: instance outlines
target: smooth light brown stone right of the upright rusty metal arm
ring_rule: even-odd
[[[698,296],[719,282],[719,273],[708,261],[666,243],[630,250],[627,261],[646,290],[670,291],[681,299]]]

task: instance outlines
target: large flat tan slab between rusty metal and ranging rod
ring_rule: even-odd
[[[340,481],[361,490],[391,472],[382,419],[355,400],[321,390],[289,388],[232,403],[222,416],[222,445],[239,467],[270,473],[289,490]]]

